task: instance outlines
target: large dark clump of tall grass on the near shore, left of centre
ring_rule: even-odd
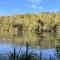
[[[24,54],[17,54],[16,49],[14,47],[13,53],[10,53],[9,60],[39,60],[39,57],[37,54],[34,54],[33,52],[28,53],[28,44],[26,43],[26,51]]]

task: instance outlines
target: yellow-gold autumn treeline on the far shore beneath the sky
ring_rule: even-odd
[[[0,16],[0,31],[56,31],[60,26],[60,12],[42,12],[39,14],[17,14]]]

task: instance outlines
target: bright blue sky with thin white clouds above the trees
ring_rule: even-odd
[[[0,0],[0,15],[60,11],[60,0]]]

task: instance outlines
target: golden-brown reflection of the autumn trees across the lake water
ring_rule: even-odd
[[[9,33],[0,32],[0,46],[2,45],[25,45],[28,42],[31,47],[54,48],[60,44],[60,33]]]

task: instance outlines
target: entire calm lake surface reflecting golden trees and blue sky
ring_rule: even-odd
[[[50,55],[55,58],[55,47],[60,44],[60,33],[58,32],[20,32],[9,33],[0,32],[0,57],[2,55],[8,55],[13,51],[14,46],[17,52],[20,50],[25,51],[26,42],[32,51],[39,55],[40,49],[42,49],[42,56],[49,57]]]

